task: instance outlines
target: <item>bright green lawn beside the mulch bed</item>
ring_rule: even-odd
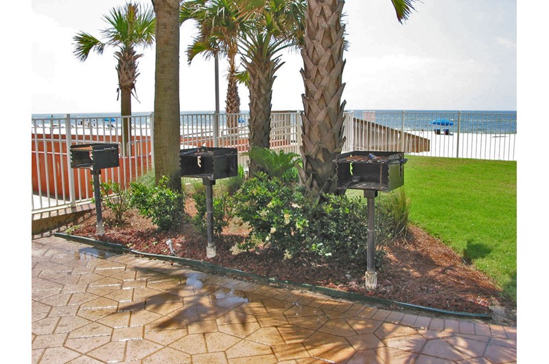
[[[492,277],[516,303],[516,161],[406,158],[411,223]]]

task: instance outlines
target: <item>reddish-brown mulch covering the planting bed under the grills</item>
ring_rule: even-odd
[[[187,214],[193,215],[191,199],[186,205]],[[217,255],[210,259],[206,257],[207,236],[191,223],[184,223],[176,231],[165,232],[158,231],[149,219],[135,210],[128,212],[126,224],[119,227],[110,223],[112,215],[108,209],[104,209],[103,216],[104,236],[95,235],[95,215],[75,225],[70,234],[117,242],[135,251],[160,255],[170,255],[165,242],[171,239],[176,256],[181,258],[394,302],[491,315],[494,319],[497,316],[499,323],[516,323],[515,304],[502,297],[501,290],[489,277],[418,227],[411,226],[406,239],[385,247],[386,258],[382,268],[377,269],[377,288],[366,291],[365,262],[357,264],[344,258],[323,260],[312,253],[285,258],[274,249],[234,254],[235,244],[242,242],[248,234],[248,229],[237,223],[231,223],[222,236],[215,239]]]

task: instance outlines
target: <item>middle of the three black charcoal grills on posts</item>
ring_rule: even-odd
[[[179,152],[181,177],[202,179],[206,190],[206,212],[208,221],[208,247],[206,256],[215,257],[213,242],[213,185],[216,179],[234,177],[238,172],[236,148],[193,148]]]

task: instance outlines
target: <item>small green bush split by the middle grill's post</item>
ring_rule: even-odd
[[[213,234],[218,237],[221,235],[223,228],[229,225],[229,215],[227,214],[228,196],[229,194],[213,196]],[[192,221],[200,231],[205,232],[208,229],[205,189],[195,192],[192,198],[197,211]]]

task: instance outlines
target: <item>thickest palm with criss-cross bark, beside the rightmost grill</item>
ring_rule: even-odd
[[[408,19],[415,0],[391,0],[400,23]],[[307,191],[320,198],[338,193],[336,166],[333,163],[344,144],[344,89],[342,73],[345,62],[344,25],[341,22],[343,0],[308,0],[303,40],[304,112],[300,177]]]

